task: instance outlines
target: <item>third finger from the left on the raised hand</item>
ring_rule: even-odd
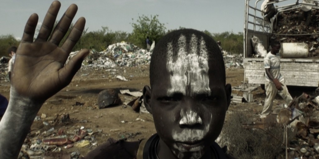
[[[65,34],[67,33],[68,29],[70,28],[70,24],[78,11],[78,6],[75,4],[71,4],[70,7],[65,11],[63,16],[61,17],[59,23],[56,25],[52,36],[50,37],[49,41],[55,45],[59,45]]]

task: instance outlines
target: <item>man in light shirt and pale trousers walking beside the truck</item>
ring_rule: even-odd
[[[266,71],[266,99],[263,106],[263,112],[260,115],[260,118],[265,118],[268,114],[271,113],[271,108],[273,101],[278,93],[288,105],[293,98],[288,92],[287,86],[285,85],[285,79],[280,74],[280,43],[273,42],[271,43],[271,51],[267,53],[264,58],[264,67]]]

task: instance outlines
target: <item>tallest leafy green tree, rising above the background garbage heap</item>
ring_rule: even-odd
[[[158,19],[159,15],[155,16],[138,16],[136,23],[132,18],[133,31],[130,35],[130,42],[141,48],[146,48],[146,37],[148,36],[150,41],[159,41],[165,35],[165,24],[160,23]]]

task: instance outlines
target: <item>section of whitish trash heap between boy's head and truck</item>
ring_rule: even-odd
[[[223,58],[226,68],[243,68],[242,54],[224,54]]]

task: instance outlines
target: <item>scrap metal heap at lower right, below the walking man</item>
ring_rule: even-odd
[[[288,158],[319,158],[319,96],[303,93],[290,104],[290,125],[297,132],[290,141]],[[278,121],[278,116],[277,116]],[[289,127],[288,126],[288,127]]]

